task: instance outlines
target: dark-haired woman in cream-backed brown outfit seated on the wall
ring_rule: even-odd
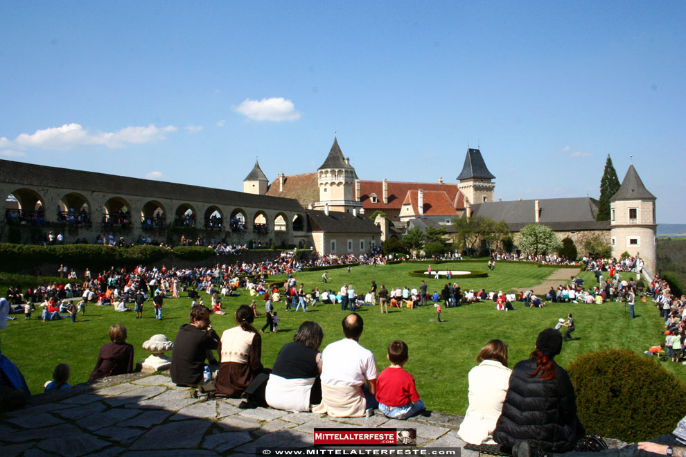
[[[254,319],[252,309],[243,305],[236,310],[238,325],[222,333],[221,360],[215,381],[218,393],[239,398],[263,371],[262,337],[252,326]]]

